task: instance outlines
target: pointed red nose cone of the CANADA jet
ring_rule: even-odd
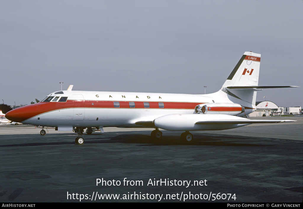
[[[5,114],[5,118],[13,122],[21,123],[22,121],[34,117],[35,115],[37,115],[37,113],[38,113],[37,105],[33,104],[33,105],[27,105],[8,111]]]

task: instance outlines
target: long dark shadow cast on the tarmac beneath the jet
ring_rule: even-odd
[[[140,144],[136,146],[169,146],[169,145],[185,145],[185,146],[273,146],[273,144],[258,144],[260,142],[257,137],[243,137],[235,135],[202,135],[195,134],[195,138],[191,142],[182,141],[179,136],[162,136],[161,139],[151,139],[149,135],[142,134],[122,134],[114,137],[106,136],[107,134],[95,134],[88,137],[85,136],[85,144],[103,144],[103,143],[133,143]],[[62,136],[62,135],[61,135]],[[68,136],[70,138],[71,135]],[[52,137],[53,138],[53,137]],[[65,137],[66,140],[67,137]],[[256,140],[257,139],[257,140]],[[260,138],[261,139],[261,138]],[[247,142],[251,143],[247,143]],[[256,143],[257,142],[257,143]],[[268,143],[268,142],[266,142]],[[46,146],[46,145],[68,145],[75,144],[68,142],[34,142],[11,145],[0,145],[0,147],[12,146]],[[81,146],[81,145],[78,145]]]

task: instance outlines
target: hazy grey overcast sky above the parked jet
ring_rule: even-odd
[[[1,94],[30,104],[66,90],[218,91],[261,54],[257,101],[303,106],[303,1],[0,0]]]

